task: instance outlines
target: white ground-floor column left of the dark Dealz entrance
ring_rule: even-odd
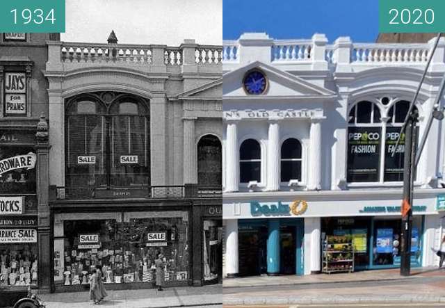
[[[227,277],[236,277],[238,268],[238,220],[226,220],[225,267]]]

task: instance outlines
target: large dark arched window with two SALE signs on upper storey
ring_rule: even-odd
[[[67,101],[66,186],[145,186],[149,109],[140,97],[95,92]]]

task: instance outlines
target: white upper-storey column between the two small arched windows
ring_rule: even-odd
[[[267,191],[280,190],[280,124],[269,122],[267,147]]]

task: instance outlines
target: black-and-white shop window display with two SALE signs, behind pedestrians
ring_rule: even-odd
[[[159,253],[165,256],[165,282],[187,281],[187,229],[181,218],[66,220],[63,284],[89,284],[97,266],[106,284],[151,284]]]

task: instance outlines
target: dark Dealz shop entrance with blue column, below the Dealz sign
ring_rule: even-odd
[[[304,220],[277,218],[280,206],[266,215],[238,220],[239,275],[303,275]]]

